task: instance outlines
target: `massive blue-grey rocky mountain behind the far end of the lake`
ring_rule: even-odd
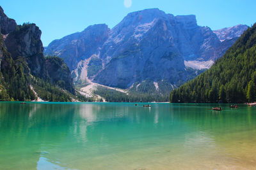
[[[193,64],[211,66],[244,28],[234,27],[229,29],[232,34],[225,31],[227,36],[218,36],[225,33],[198,26],[195,15],[173,16],[149,9],[129,13],[111,30],[107,25],[93,25],[54,40],[45,53],[63,58],[76,83],[89,80],[122,89],[164,92],[194,78],[198,70],[191,69]]]

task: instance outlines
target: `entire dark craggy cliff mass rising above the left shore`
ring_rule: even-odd
[[[13,79],[7,78],[6,83],[8,84],[8,81],[13,81],[13,87],[18,86],[20,89],[27,89],[29,84],[32,83],[32,77],[33,81],[40,79],[40,81],[51,83],[52,86],[59,85],[61,88],[74,94],[70,69],[68,69],[65,62],[59,57],[44,57],[44,47],[40,39],[42,32],[40,29],[35,24],[16,25],[15,20],[6,17],[1,7],[0,17],[1,72],[5,76],[10,74],[10,78]],[[13,73],[8,73],[8,70]],[[19,81],[15,80],[15,77],[17,77],[16,73],[24,76],[22,80],[19,80],[22,81],[22,85],[18,85]],[[11,76],[11,74],[13,75]],[[13,87],[8,88],[11,89]],[[31,95],[27,95],[30,92],[31,89],[22,91],[24,93],[23,97],[17,97],[15,96],[16,94],[13,94],[14,99],[31,99]],[[10,97],[13,96],[10,95]]]

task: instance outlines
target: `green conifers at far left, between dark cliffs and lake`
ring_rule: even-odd
[[[28,86],[30,77],[24,73],[28,66],[24,58],[13,60],[7,52],[0,34],[0,52],[2,53],[0,71],[0,101],[26,101],[35,99],[35,94]]]

